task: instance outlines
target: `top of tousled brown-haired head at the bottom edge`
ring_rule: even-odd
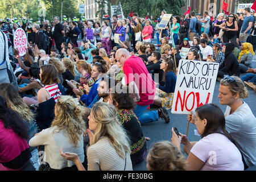
[[[147,155],[148,171],[185,171],[185,157],[169,141],[157,142]]]

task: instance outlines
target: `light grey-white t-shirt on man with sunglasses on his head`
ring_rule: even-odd
[[[256,165],[256,118],[250,107],[243,101],[234,113],[226,107],[226,130],[236,140],[247,166]]]

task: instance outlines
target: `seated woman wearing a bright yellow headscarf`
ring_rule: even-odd
[[[246,71],[251,68],[251,60],[253,59],[253,56],[255,55],[253,51],[253,45],[250,43],[242,43],[241,45],[241,52],[238,56],[238,63],[240,72],[246,73]]]

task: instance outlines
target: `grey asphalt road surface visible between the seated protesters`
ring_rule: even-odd
[[[152,40],[152,43],[156,45],[156,39]],[[256,55],[253,57],[253,68],[256,68]],[[240,77],[242,77],[244,74],[242,74]],[[214,88],[214,94],[213,94],[213,101],[212,103],[217,104],[220,106],[222,111],[224,112],[226,109],[226,106],[220,105],[218,101],[218,87],[220,86],[220,82],[216,81],[216,85]],[[245,98],[243,101],[245,101],[253,111],[254,115],[256,114],[256,93],[248,89],[249,91],[249,97]],[[154,105],[150,106],[150,110],[155,110],[157,107]],[[147,150],[149,150],[155,142],[159,142],[162,140],[171,140],[172,134],[171,134],[171,129],[172,127],[177,127],[177,130],[179,130],[180,133],[186,134],[187,132],[187,126],[188,126],[188,121],[187,121],[187,115],[182,115],[182,114],[172,114],[171,110],[168,110],[169,116],[170,116],[170,123],[166,124],[163,119],[159,119],[159,121],[151,122],[151,123],[144,123],[142,125],[142,130],[143,134],[146,137],[150,137],[150,141],[147,141]],[[189,141],[197,141],[200,140],[201,138],[199,136],[195,135],[196,126],[193,124],[189,125],[189,130],[188,130],[188,139]],[[182,146],[181,146],[182,147]],[[183,150],[183,147],[181,148]],[[32,158],[31,158],[31,164],[28,164],[27,167],[25,167],[23,170],[38,170],[39,163],[38,163],[38,154],[37,150],[32,151]],[[187,156],[184,153],[185,156]],[[146,160],[143,162],[137,164],[136,166],[133,167],[134,171],[146,171]],[[256,166],[251,167],[247,170],[253,170],[256,171]]]

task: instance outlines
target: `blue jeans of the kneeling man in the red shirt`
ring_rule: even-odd
[[[149,111],[149,112],[144,113],[144,111],[147,109],[147,107],[148,107],[148,105],[140,106],[138,104],[135,107],[135,114],[137,115],[139,122],[141,122],[141,124],[158,121],[158,110]]]

